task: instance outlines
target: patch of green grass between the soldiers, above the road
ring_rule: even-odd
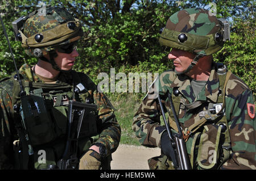
[[[115,116],[121,126],[120,144],[140,146],[141,144],[139,144],[135,132],[131,129],[131,124],[133,123],[133,116],[141,104],[141,100],[137,95],[133,94],[107,96],[117,110],[115,111]]]

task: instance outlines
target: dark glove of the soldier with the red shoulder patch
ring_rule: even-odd
[[[164,131],[162,134],[160,148],[163,151],[163,154],[167,155],[169,160],[172,160],[171,158],[173,155],[175,155],[175,153],[167,131]]]

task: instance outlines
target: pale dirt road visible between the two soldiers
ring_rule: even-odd
[[[148,170],[147,160],[160,155],[159,148],[119,145],[112,154],[112,170]]]

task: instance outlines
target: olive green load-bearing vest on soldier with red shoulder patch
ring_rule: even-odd
[[[218,67],[221,66],[223,65],[218,65]],[[187,151],[190,154],[192,169],[219,169],[230,157],[231,143],[228,121],[225,115],[225,89],[232,73],[221,68],[217,70],[217,74],[220,81],[219,89],[221,90],[217,103],[209,103],[208,110],[201,111],[201,117],[196,117],[195,123],[188,128],[181,126]],[[181,94],[175,95],[172,91],[171,97],[175,111],[179,113],[180,107],[184,106]],[[189,108],[193,110],[193,108],[199,107],[200,104],[199,102],[187,106],[190,106],[191,108]],[[177,132],[174,116],[170,113],[170,108],[167,110],[170,127]],[[171,163],[168,165],[171,165]]]

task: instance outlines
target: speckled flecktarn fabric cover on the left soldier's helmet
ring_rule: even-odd
[[[32,12],[19,33],[28,55],[35,55],[35,49],[42,50],[44,55],[56,46],[79,40],[83,35],[79,20],[61,7],[46,7],[44,14],[42,8]]]

